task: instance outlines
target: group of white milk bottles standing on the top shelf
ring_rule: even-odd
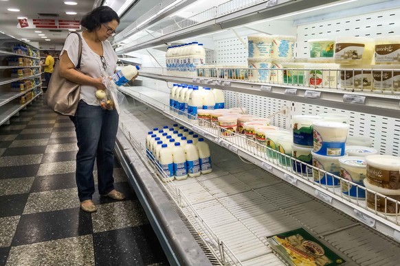
[[[205,64],[205,49],[201,43],[192,42],[168,47],[166,52],[167,73],[185,75]]]

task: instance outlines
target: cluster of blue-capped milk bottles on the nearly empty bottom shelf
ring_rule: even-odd
[[[195,178],[212,171],[210,148],[204,138],[177,124],[148,132],[146,154],[160,172],[164,171],[164,181]]]

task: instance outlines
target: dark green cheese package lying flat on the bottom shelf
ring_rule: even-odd
[[[267,237],[267,241],[289,265],[333,266],[345,263],[343,258],[303,228],[275,234]]]

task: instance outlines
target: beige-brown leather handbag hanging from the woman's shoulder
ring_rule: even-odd
[[[78,34],[71,32],[71,34]],[[79,47],[78,47],[78,65],[76,70],[80,71],[80,59],[82,57],[82,39],[79,36]],[[54,112],[63,115],[74,116],[76,108],[80,99],[80,84],[70,82],[64,77],[60,76],[60,60],[56,62],[52,77],[50,78],[47,90],[45,93],[45,104],[49,106]]]

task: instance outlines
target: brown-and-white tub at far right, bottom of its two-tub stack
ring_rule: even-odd
[[[364,179],[364,186],[371,191],[375,191],[400,202],[400,190],[383,189],[379,186],[374,186],[370,183],[368,178]],[[400,204],[397,204],[396,210],[396,203],[386,199],[386,197],[376,195],[375,204],[375,193],[371,191],[367,191],[366,193],[366,203],[368,208],[372,210],[377,210],[379,213],[385,213],[386,215],[397,215],[398,213],[400,213]]]

